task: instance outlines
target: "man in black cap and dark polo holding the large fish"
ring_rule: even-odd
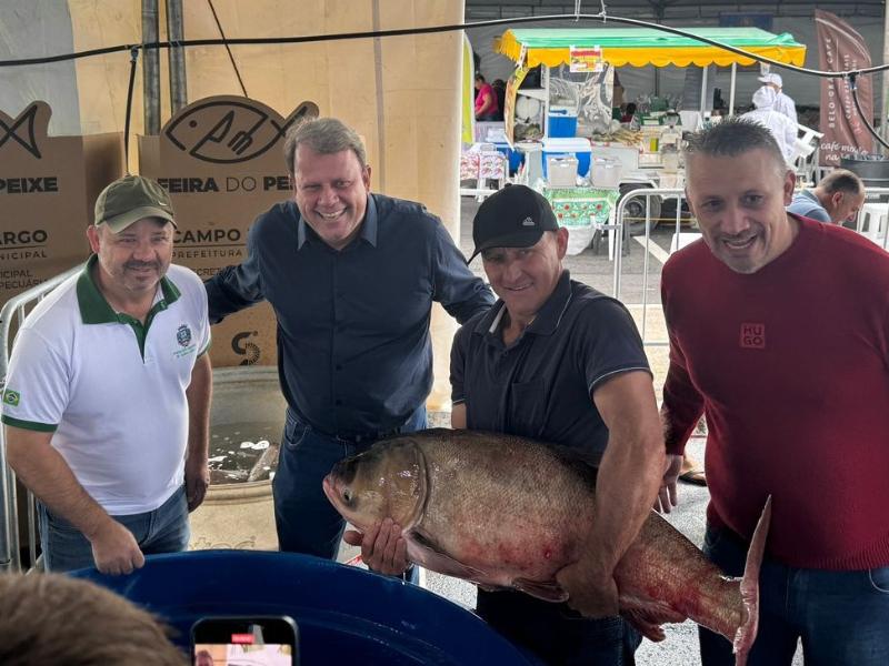
[[[599,468],[585,554],[558,575],[568,604],[586,617],[565,604],[482,589],[477,610],[547,663],[632,664],[641,638],[618,615],[613,569],[651,509],[665,470],[642,341],[620,302],[562,269],[568,231],[533,190],[513,185],[490,196],[472,238],[472,258],[481,253],[500,300],[455,337],[453,426],[576,447]]]

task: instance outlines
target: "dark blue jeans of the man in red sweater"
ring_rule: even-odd
[[[703,553],[732,576],[743,573],[747,544],[708,526]],[[748,666],[789,666],[802,639],[806,666],[889,664],[889,566],[833,572],[765,559],[759,576],[759,632]],[[703,627],[705,666],[735,664],[731,645]]]

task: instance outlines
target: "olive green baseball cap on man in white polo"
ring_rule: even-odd
[[[143,218],[161,218],[176,226],[170,195],[149,178],[124,175],[102,190],[96,200],[94,224],[107,224],[114,233]]]

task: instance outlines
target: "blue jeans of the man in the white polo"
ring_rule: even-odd
[[[40,547],[48,572],[70,572],[94,565],[89,539],[71,523],[50,513],[38,502]],[[128,516],[111,516],[127,527],[146,555],[179,553],[188,548],[188,502],[184,486],[154,511]]]

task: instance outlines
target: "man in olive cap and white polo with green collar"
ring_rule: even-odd
[[[210,326],[200,279],[170,265],[173,228],[157,182],[108,185],[94,254],[16,339],[7,455],[39,500],[49,571],[129,573],[188,546],[209,482]]]

